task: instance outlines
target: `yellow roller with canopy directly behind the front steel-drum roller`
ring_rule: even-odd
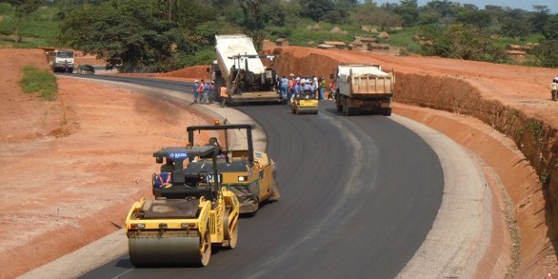
[[[190,126],[188,141],[192,145],[217,146],[220,159],[217,169],[222,174],[222,187],[232,191],[240,202],[240,212],[254,215],[260,203],[279,201],[275,179],[275,162],[263,152],[253,149],[252,126],[249,124],[219,124]],[[209,142],[202,142],[201,131],[212,133]],[[187,173],[212,171],[205,160],[191,162]]]

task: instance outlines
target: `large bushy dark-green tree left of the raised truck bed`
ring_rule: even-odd
[[[172,67],[174,51],[192,53],[196,47],[178,32],[153,1],[121,0],[83,5],[60,23],[58,39],[96,54],[109,67],[123,71]]]

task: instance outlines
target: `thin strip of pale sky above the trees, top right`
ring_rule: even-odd
[[[399,3],[398,0],[375,0],[377,5],[383,3]],[[418,0],[418,5],[426,5],[429,0]],[[558,13],[558,1],[556,0],[449,0],[449,2],[459,2],[460,4],[472,4],[483,9],[485,5],[501,5],[511,8],[520,8],[532,11],[532,5],[546,5],[552,14]]]

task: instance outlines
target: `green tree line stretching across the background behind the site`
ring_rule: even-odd
[[[246,33],[256,42],[293,35],[301,20],[378,30],[412,30],[421,55],[505,62],[505,45],[533,44],[540,65],[558,67],[558,15],[433,0],[377,5],[366,0],[7,0],[23,19],[39,5],[58,8],[61,45],[94,53],[123,71],[185,67],[216,34]],[[205,57],[205,59],[212,57]],[[190,59],[190,60],[189,60]]]

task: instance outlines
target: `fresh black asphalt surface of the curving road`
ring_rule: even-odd
[[[191,94],[181,82],[123,79]],[[237,248],[214,251],[205,268],[134,268],[124,255],[82,278],[395,277],[439,210],[434,151],[388,117],[341,116],[333,102],[321,101],[318,115],[237,109],[265,129],[282,200],[241,219]]]

